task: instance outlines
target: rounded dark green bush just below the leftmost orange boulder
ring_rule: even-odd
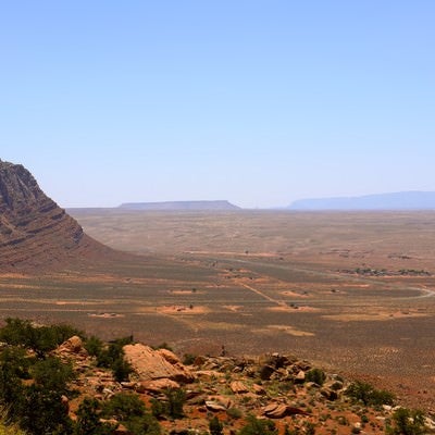
[[[73,366],[55,357],[37,361],[30,372],[36,385],[61,394],[67,391],[67,383],[75,377]]]

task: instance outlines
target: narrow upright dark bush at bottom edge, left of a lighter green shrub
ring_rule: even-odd
[[[78,407],[74,435],[111,435],[114,428],[109,423],[100,422],[99,402],[97,399],[86,398],[83,400]]]

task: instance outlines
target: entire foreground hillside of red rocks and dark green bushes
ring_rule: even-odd
[[[433,431],[393,394],[293,356],[185,355],[64,324],[0,328],[0,434],[359,434]]]

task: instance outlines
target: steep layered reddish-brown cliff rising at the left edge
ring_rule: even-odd
[[[23,165],[0,160],[0,271],[50,266],[99,248]]]

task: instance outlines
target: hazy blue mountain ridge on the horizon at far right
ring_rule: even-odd
[[[435,210],[435,191],[399,191],[361,197],[294,201],[289,210]]]

